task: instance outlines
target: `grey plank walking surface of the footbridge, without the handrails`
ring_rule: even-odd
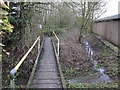
[[[43,56],[38,63],[32,88],[62,88],[51,38],[45,38]]]

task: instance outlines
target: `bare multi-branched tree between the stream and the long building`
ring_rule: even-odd
[[[104,6],[105,2],[99,0],[99,2],[70,2],[67,3],[67,6],[73,10],[78,19],[78,25],[80,26],[80,35],[79,41],[81,42],[81,38],[83,33],[91,33],[93,21],[99,18],[103,13],[105,13],[106,9]]]

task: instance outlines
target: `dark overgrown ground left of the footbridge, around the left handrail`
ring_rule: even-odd
[[[21,58],[28,51],[28,48],[22,47],[21,41],[6,45],[4,48],[10,55],[2,53],[2,86],[3,88],[10,87],[10,70],[12,70]],[[27,85],[28,79],[31,75],[34,62],[37,55],[37,46],[33,48],[32,52],[27,56],[19,70],[15,74],[16,88],[24,88]]]

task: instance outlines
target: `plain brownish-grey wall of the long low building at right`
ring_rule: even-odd
[[[118,35],[120,35],[120,24],[118,23],[120,20],[95,22],[93,32],[118,46]]]

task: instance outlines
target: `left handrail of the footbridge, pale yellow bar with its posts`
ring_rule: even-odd
[[[38,52],[39,52],[39,49],[40,49],[40,36],[36,39],[36,41],[33,43],[33,45],[27,51],[27,53],[23,56],[23,58],[20,60],[20,62],[10,71],[10,75],[11,75],[10,88],[15,88],[15,82],[14,82],[15,73],[17,72],[17,70],[19,69],[19,67],[23,63],[23,61],[26,59],[28,54],[32,51],[33,47],[36,45],[37,42],[38,42]]]

